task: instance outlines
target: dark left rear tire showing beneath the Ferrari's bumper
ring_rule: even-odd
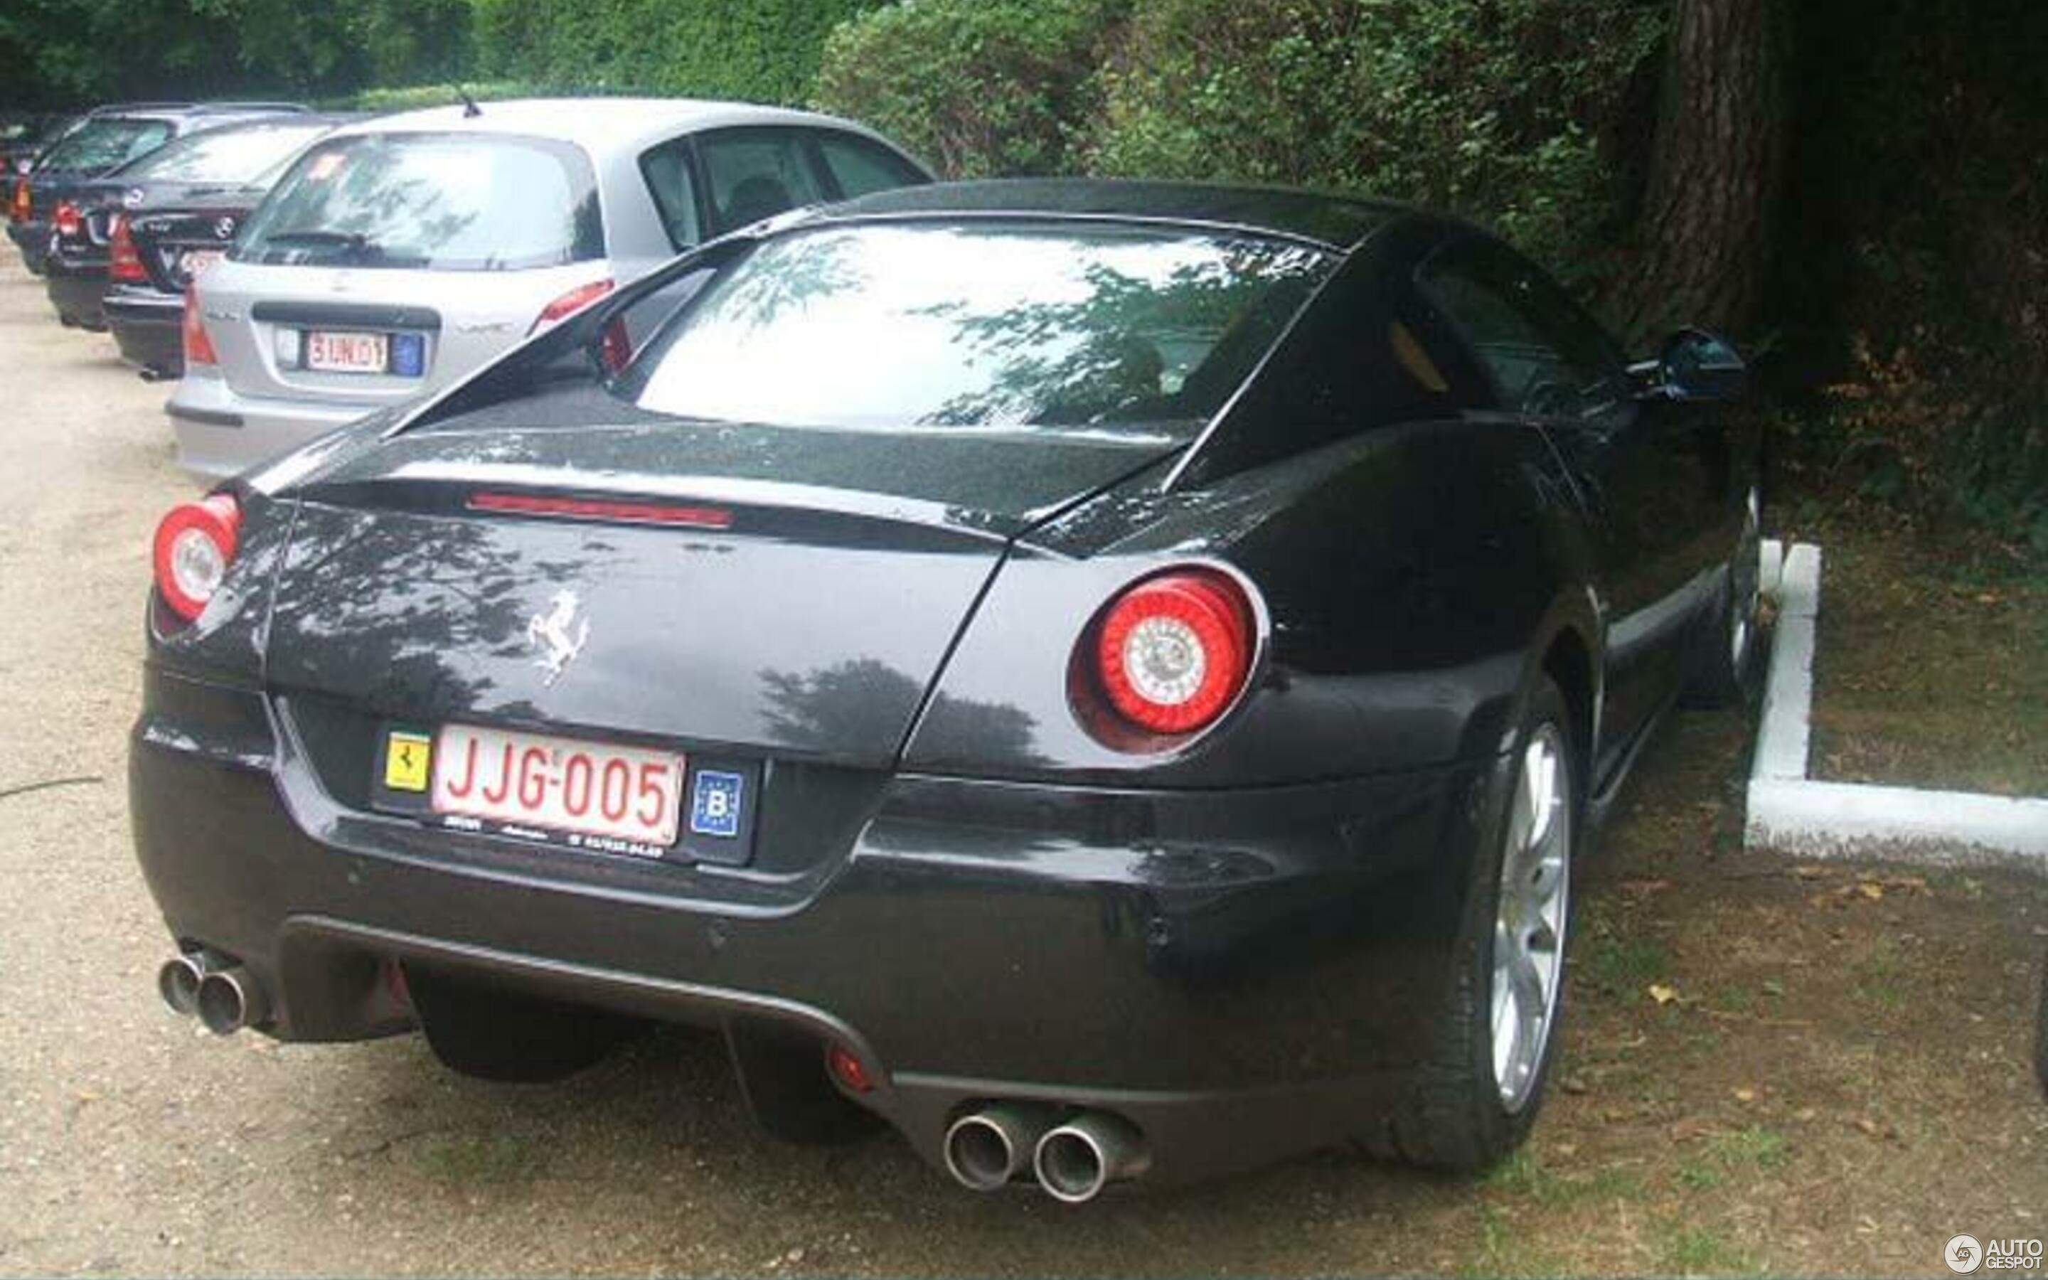
[[[406,989],[440,1065],[475,1079],[541,1083],[594,1067],[639,1026],[418,965]]]

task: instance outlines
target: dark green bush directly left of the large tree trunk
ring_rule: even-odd
[[[1583,264],[1628,215],[1612,137],[1661,31],[1610,0],[1149,0],[1090,162],[1427,203]]]

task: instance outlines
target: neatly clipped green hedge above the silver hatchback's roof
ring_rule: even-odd
[[[803,102],[825,35],[877,0],[475,0],[483,74],[582,90]]]

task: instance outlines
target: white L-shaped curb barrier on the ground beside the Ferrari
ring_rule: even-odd
[[[1864,786],[1806,776],[1821,549],[1765,543],[1759,575],[1776,590],[1778,627],[1763,719],[1749,770],[1747,848],[1812,858],[1890,854],[1935,864],[2025,864],[2048,870],[2048,799]]]

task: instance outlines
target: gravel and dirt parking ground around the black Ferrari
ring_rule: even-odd
[[[0,791],[88,778],[0,799],[0,1272],[1946,1274],[1954,1233],[2048,1235],[2048,891],[1741,856],[1735,717],[1653,748],[1585,872],[1561,1087],[1479,1184],[1327,1155],[1069,1212],[893,1137],[760,1139],[682,1032],[532,1090],[207,1036],[152,993],[121,780],[147,537],[193,492],[164,389],[12,256],[0,387]]]

